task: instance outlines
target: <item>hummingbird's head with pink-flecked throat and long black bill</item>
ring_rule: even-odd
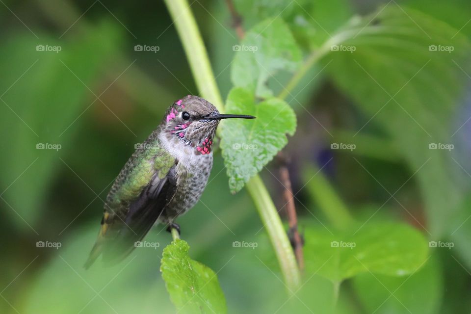
[[[207,100],[188,95],[171,105],[165,113],[165,137],[170,143],[184,144],[195,149],[196,155],[211,152],[211,145],[221,119],[253,119],[254,116],[221,114]]]

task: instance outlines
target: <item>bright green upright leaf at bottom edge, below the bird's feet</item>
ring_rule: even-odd
[[[160,271],[179,313],[226,313],[216,274],[188,256],[188,243],[177,239],[163,250]]]

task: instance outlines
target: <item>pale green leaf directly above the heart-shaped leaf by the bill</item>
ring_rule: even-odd
[[[267,19],[250,29],[234,49],[232,82],[263,98],[273,95],[266,86],[269,78],[279,70],[294,71],[301,61],[301,51],[288,26],[279,18]]]

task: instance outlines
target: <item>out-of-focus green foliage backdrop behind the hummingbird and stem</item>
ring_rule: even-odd
[[[103,200],[135,144],[175,100],[199,94],[164,3],[0,2],[0,312],[174,313],[159,272],[171,241],[161,227],[147,237],[157,249],[139,248],[111,268],[82,269]],[[189,2],[225,98],[238,43],[230,12],[225,1]],[[410,276],[348,279],[338,313],[469,313],[471,2],[235,0],[244,28],[279,16],[305,56],[351,17],[383,23],[384,5],[404,13],[392,25],[404,19],[423,42],[400,28],[373,33],[366,45],[378,46],[370,53],[322,58],[287,97],[298,119],[284,153],[300,230],[308,239],[309,228],[331,223],[320,209],[332,205],[318,187],[327,183],[306,176],[322,168],[360,225],[403,222],[427,241],[452,246],[431,245]],[[439,57],[418,48],[448,41],[454,51]],[[280,73],[269,84],[281,92],[278,82],[289,77]],[[334,150],[333,143],[356,149]],[[453,149],[429,149],[434,143]],[[229,313],[327,313],[334,284],[317,274],[296,304],[288,301],[252,200],[244,189],[229,192],[225,172],[217,153],[201,202],[178,222],[191,257],[217,272]],[[282,208],[278,164],[262,178]]]

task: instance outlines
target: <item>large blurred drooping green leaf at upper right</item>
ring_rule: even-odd
[[[433,237],[443,235],[458,214],[463,185],[457,173],[464,172],[452,152],[429,145],[458,138],[452,134],[462,123],[454,114],[469,81],[463,71],[471,72],[468,39],[443,22],[390,3],[353,19],[326,45],[338,50],[323,59],[330,62],[326,70],[365,115],[354,132],[374,126],[387,131],[419,181],[425,228]]]

